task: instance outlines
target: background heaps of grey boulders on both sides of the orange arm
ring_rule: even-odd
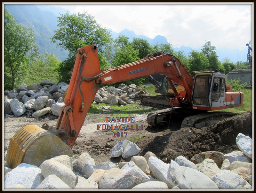
[[[64,105],[62,96],[67,88],[65,82],[56,84],[43,80],[40,84],[22,84],[15,90],[4,91],[4,114],[21,116],[25,113],[27,117],[42,117],[51,113],[58,117],[60,107]],[[93,103],[132,104],[144,94],[148,92],[135,84],[120,84],[118,88],[102,87],[97,91]]]

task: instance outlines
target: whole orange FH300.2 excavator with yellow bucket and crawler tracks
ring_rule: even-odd
[[[212,124],[213,117],[223,118],[230,114],[216,111],[211,114],[207,111],[243,105],[244,94],[232,92],[230,85],[225,85],[224,73],[200,71],[195,72],[192,77],[181,61],[163,52],[148,54],[140,61],[100,70],[97,46],[82,47],[77,50],[64,98],[65,105],[60,108],[57,124],[43,124],[42,128],[26,125],[21,128],[12,137],[7,150],[6,161],[9,167],[15,168],[20,163],[39,166],[43,161],[57,155],[72,156],[72,147],[99,88],[157,73],[167,77],[175,97],[169,100],[171,108],[148,114],[149,125],[168,123],[170,115],[175,112],[180,116],[187,115],[182,122],[183,126],[195,126],[199,123],[200,128],[206,123]],[[173,82],[180,85],[184,91],[178,93]],[[200,125],[200,120],[203,125]]]

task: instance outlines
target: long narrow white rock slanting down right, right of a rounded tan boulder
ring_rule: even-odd
[[[159,160],[154,156],[150,156],[148,158],[148,166],[151,170],[151,173],[156,177],[158,181],[166,183],[169,189],[174,186],[174,183],[169,182],[167,179],[169,164],[164,163],[162,160]]]

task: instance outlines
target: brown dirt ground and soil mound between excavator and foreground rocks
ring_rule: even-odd
[[[141,105],[143,108],[143,105]],[[120,157],[110,159],[111,148],[120,140],[131,139],[138,147],[140,154],[143,156],[146,152],[151,151],[156,156],[169,163],[178,156],[184,156],[191,159],[194,154],[204,151],[220,151],[224,154],[234,150],[239,150],[236,146],[236,136],[243,133],[252,138],[252,111],[245,112],[235,117],[225,119],[210,127],[196,129],[192,127],[180,128],[181,120],[175,119],[168,125],[161,128],[154,128],[147,123],[147,113],[135,114],[134,123],[143,125],[143,130],[127,130],[123,132],[123,138],[113,137],[110,130],[97,130],[97,124],[106,123],[106,117],[116,118],[109,111],[101,114],[90,114],[85,118],[84,125],[79,133],[76,143],[73,147],[73,158],[77,158],[80,154],[87,152],[95,160],[95,163],[104,161],[113,161],[119,163],[130,161],[131,158],[123,159]],[[99,121],[101,120],[101,121]],[[11,137],[21,127],[29,124],[42,126],[44,123],[48,125],[56,125],[57,117],[53,115],[44,118],[27,118],[26,116],[11,116],[4,118],[4,151],[7,150]]]

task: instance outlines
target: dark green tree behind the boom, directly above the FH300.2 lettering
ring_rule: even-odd
[[[132,47],[133,49],[139,51],[140,59],[143,59],[148,54],[151,54],[153,52],[153,47],[148,43],[148,40],[143,38],[134,37],[132,39]]]

